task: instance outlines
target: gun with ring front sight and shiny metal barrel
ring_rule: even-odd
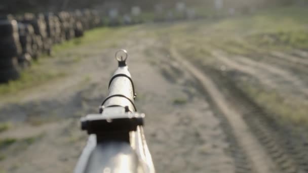
[[[155,172],[144,133],[145,115],[136,112],[134,83],[126,65],[127,52],[115,54],[118,69],[109,81],[108,96],[99,114],[81,118],[88,143],[75,167],[75,173]]]

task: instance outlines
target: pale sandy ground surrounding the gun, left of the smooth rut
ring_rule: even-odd
[[[118,48],[129,51],[137,107],[146,113],[145,135],[157,172],[234,172],[219,119],[194,79],[177,64],[170,68],[169,55],[155,50],[155,44],[131,34]],[[67,76],[1,99],[0,120],[11,120],[14,127],[0,139],[17,141],[0,150],[0,172],[73,170],[87,140],[79,117],[98,111],[117,67],[113,54],[118,48],[101,49],[98,43],[63,51],[43,65],[67,66]],[[87,57],[63,64],[81,52]]]

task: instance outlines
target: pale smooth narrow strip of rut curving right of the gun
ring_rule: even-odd
[[[274,161],[267,155],[259,141],[254,137],[253,133],[245,123],[242,116],[232,108],[230,108],[222,93],[217,89],[214,82],[204,73],[199,71],[194,65],[181,58],[181,55],[173,48],[170,49],[173,57],[181,62],[182,66],[193,74],[203,86],[203,89],[208,91],[211,99],[219,107],[225,115],[229,124],[233,127],[235,136],[239,141],[239,145],[246,152],[252,162],[256,172],[278,172]]]

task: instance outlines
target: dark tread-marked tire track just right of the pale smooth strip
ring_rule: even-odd
[[[232,76],[210,66],[203,71],[212,76],[220,89],[226,89],[221,91],[232,107],[244,115],[245,122],[282,172],[307,172],[305,170],[308,168],[303,164],[307,163],[307,158],[302,154],[307,143],[298,136],[299,134],[293,133],[294,129],[286,123],[281,123],[275,116],[267,114],[253,98],[249,98],[236,86]]]

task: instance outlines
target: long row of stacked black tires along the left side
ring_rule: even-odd
[[[88,9],[0,17],[0,83],[17,79],[42,54],[51,55],[53,45],[81,37],[99,25],[101,17]]]

